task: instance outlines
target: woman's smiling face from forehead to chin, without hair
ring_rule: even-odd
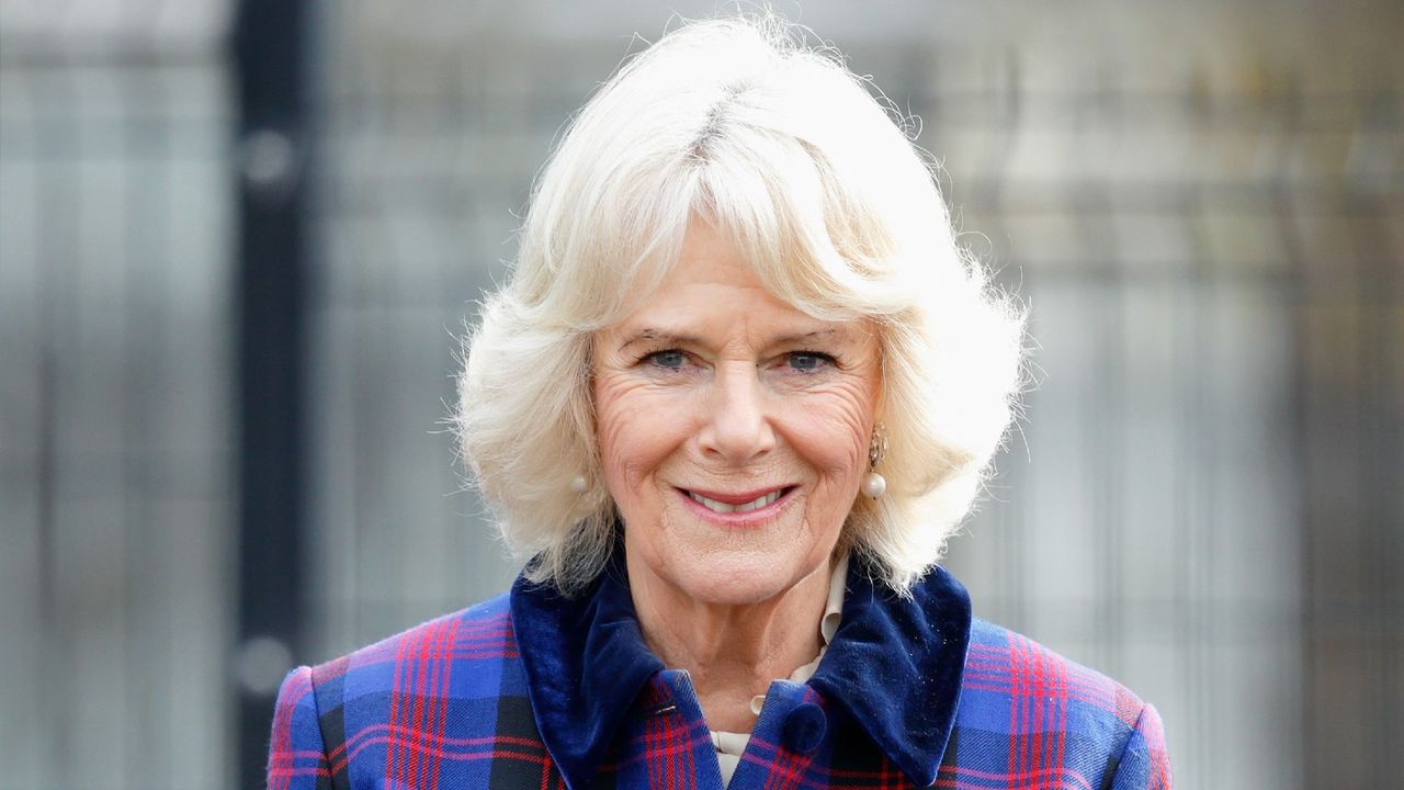
[[[866,471],[879,368],[865,323],[781,302],[694,221],[663,285],[594,344],[630,575],[747,604],[823,566]]]

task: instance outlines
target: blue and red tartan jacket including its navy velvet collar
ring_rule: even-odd
[[[731,790],[1168,790],[1155,708],[970,616],[932,571],[911,599],[849,564],[819,671],[775,680]],[[644,645],[616,564],[573,599],[521,579],[282,683],[272,790],[722,789],[687,672]]]

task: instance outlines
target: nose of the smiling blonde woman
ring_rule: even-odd
[[[775,447],[765,392],[754,364],[720,367],[709,396],[702,451],[733,465],[751,462]]]

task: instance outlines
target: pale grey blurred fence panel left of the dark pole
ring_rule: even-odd
[[[0,52],[0,787],[219,787],[225,75]]]

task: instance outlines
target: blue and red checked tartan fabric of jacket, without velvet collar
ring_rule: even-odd
[[[293,671],[278,694],[268,787],[566,789],[538,730],[514,626],[501,596]],[[1153,707],[1008,630],[974,620],[969,637],[955,727],[928,763],[939,765],[935,787],[1171,787]],[[887,694],[899,713],[922,701],[920,689],[873,689],[862,692]],[[590,787],[720,790],[685,673],[657,672],[619,704],[622,723]],[[809,685],[776,682],[730,787],[914,787],[848,710],[847,700]],[[810,725],[809,735],[800,724]]]

